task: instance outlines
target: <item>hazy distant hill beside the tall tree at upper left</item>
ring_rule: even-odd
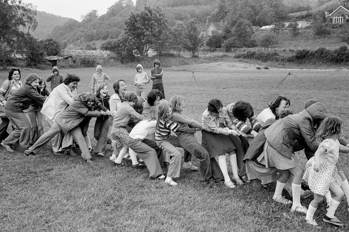
[[[37,39],[46,39],[52,33],[53,28],[63,25],[69,20],[67,17],[61,17],[58,15],[46,13],[44,11],[36,12],[36,21],[38,26],[35,31],[29,31],[32,36]]]

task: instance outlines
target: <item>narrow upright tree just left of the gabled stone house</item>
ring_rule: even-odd
[[[184,36],[184,48],[192,53],[192,57],[198,57],[199,47],[203,44],[203,38],[200,36],[200,30],[196,21],[191,20],[187,23],[187,31]]]

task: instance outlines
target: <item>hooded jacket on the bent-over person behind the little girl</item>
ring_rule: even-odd
[[[316,151],[320,142],[315,140],[314,120],[324,119],[327,110],[322,102],[309,106],[298,114],[277,120],[265,130],[267,142],[282,155],[291,158],[292,147],[296,141],[305,141],[308,147]]]

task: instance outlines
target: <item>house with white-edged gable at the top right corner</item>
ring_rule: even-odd
[[[331,23],[349,22],[349,0],[342,1],[339,5],[333,5],[325,10],[325,16]]]

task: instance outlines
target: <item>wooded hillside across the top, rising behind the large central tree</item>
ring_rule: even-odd
[[[198,23],[222,20],[231,29],[239,18],[261,27],[294,20],[289,14],[295,12],[308,12],[298,16],[297,20],[321,15],[322,9],[317,12],[317,8],[327,2],[336,4],[337,0],[137,0],[135,6],[131,0],[120,0],[110,6],[104,15],[98,15],[96,10],[92,10],[84,16],[82,22],[70,19],[56,27],[51,36],[64,44],[121,38],[125,33],[125,21],[131,12],[139,12],[144,5],[159,6],[170,27],[177,22],[186,24],[195,18]]]

